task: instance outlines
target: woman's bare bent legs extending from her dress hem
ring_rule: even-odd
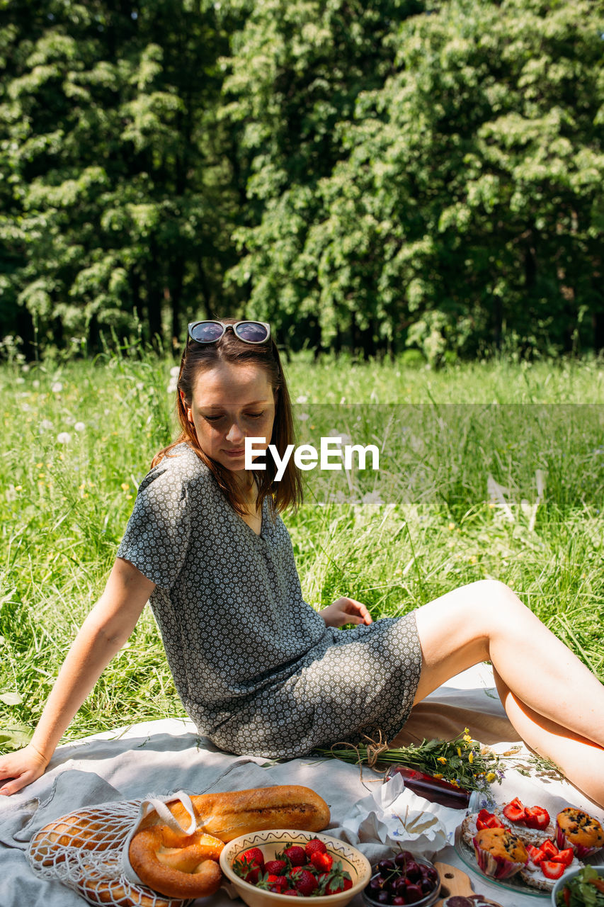
[[[604,686],[503,583],[481,580],[415,611],[420,702],[453,675],[491,661],[512,725],[604,805]]]

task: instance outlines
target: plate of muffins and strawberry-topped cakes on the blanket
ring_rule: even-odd
[[[580,868],[580,859],[604,845],[604,831],[593,816],[569,806],[552,823],[543,807],[526,807],[517,797],[502,809],[468,815],[461,834],[482,873],[495,880],[518,873],[542,891],[551,891],[563,873]]]

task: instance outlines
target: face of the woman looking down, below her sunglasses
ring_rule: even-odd
[[[261,366],[220,362],[200,371],[192,399],[180,394],[195,425],[201,450],[233,472],[245,469],[245,439],[264,438],[266,450],[275,421],[275,394]]]

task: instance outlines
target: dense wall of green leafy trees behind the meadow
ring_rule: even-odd
[[[604,347],[601,0],[0,0],[0,334]],[[176,341],[175,341],[176,342]]]

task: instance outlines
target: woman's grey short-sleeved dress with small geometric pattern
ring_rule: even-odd
[[[326,627],[268,500],[257,535],[190,445],[143,479],[117,555],[156,583],[176,689],[219,748],[290,758],[403,727],[422,663],[414,615]]]

